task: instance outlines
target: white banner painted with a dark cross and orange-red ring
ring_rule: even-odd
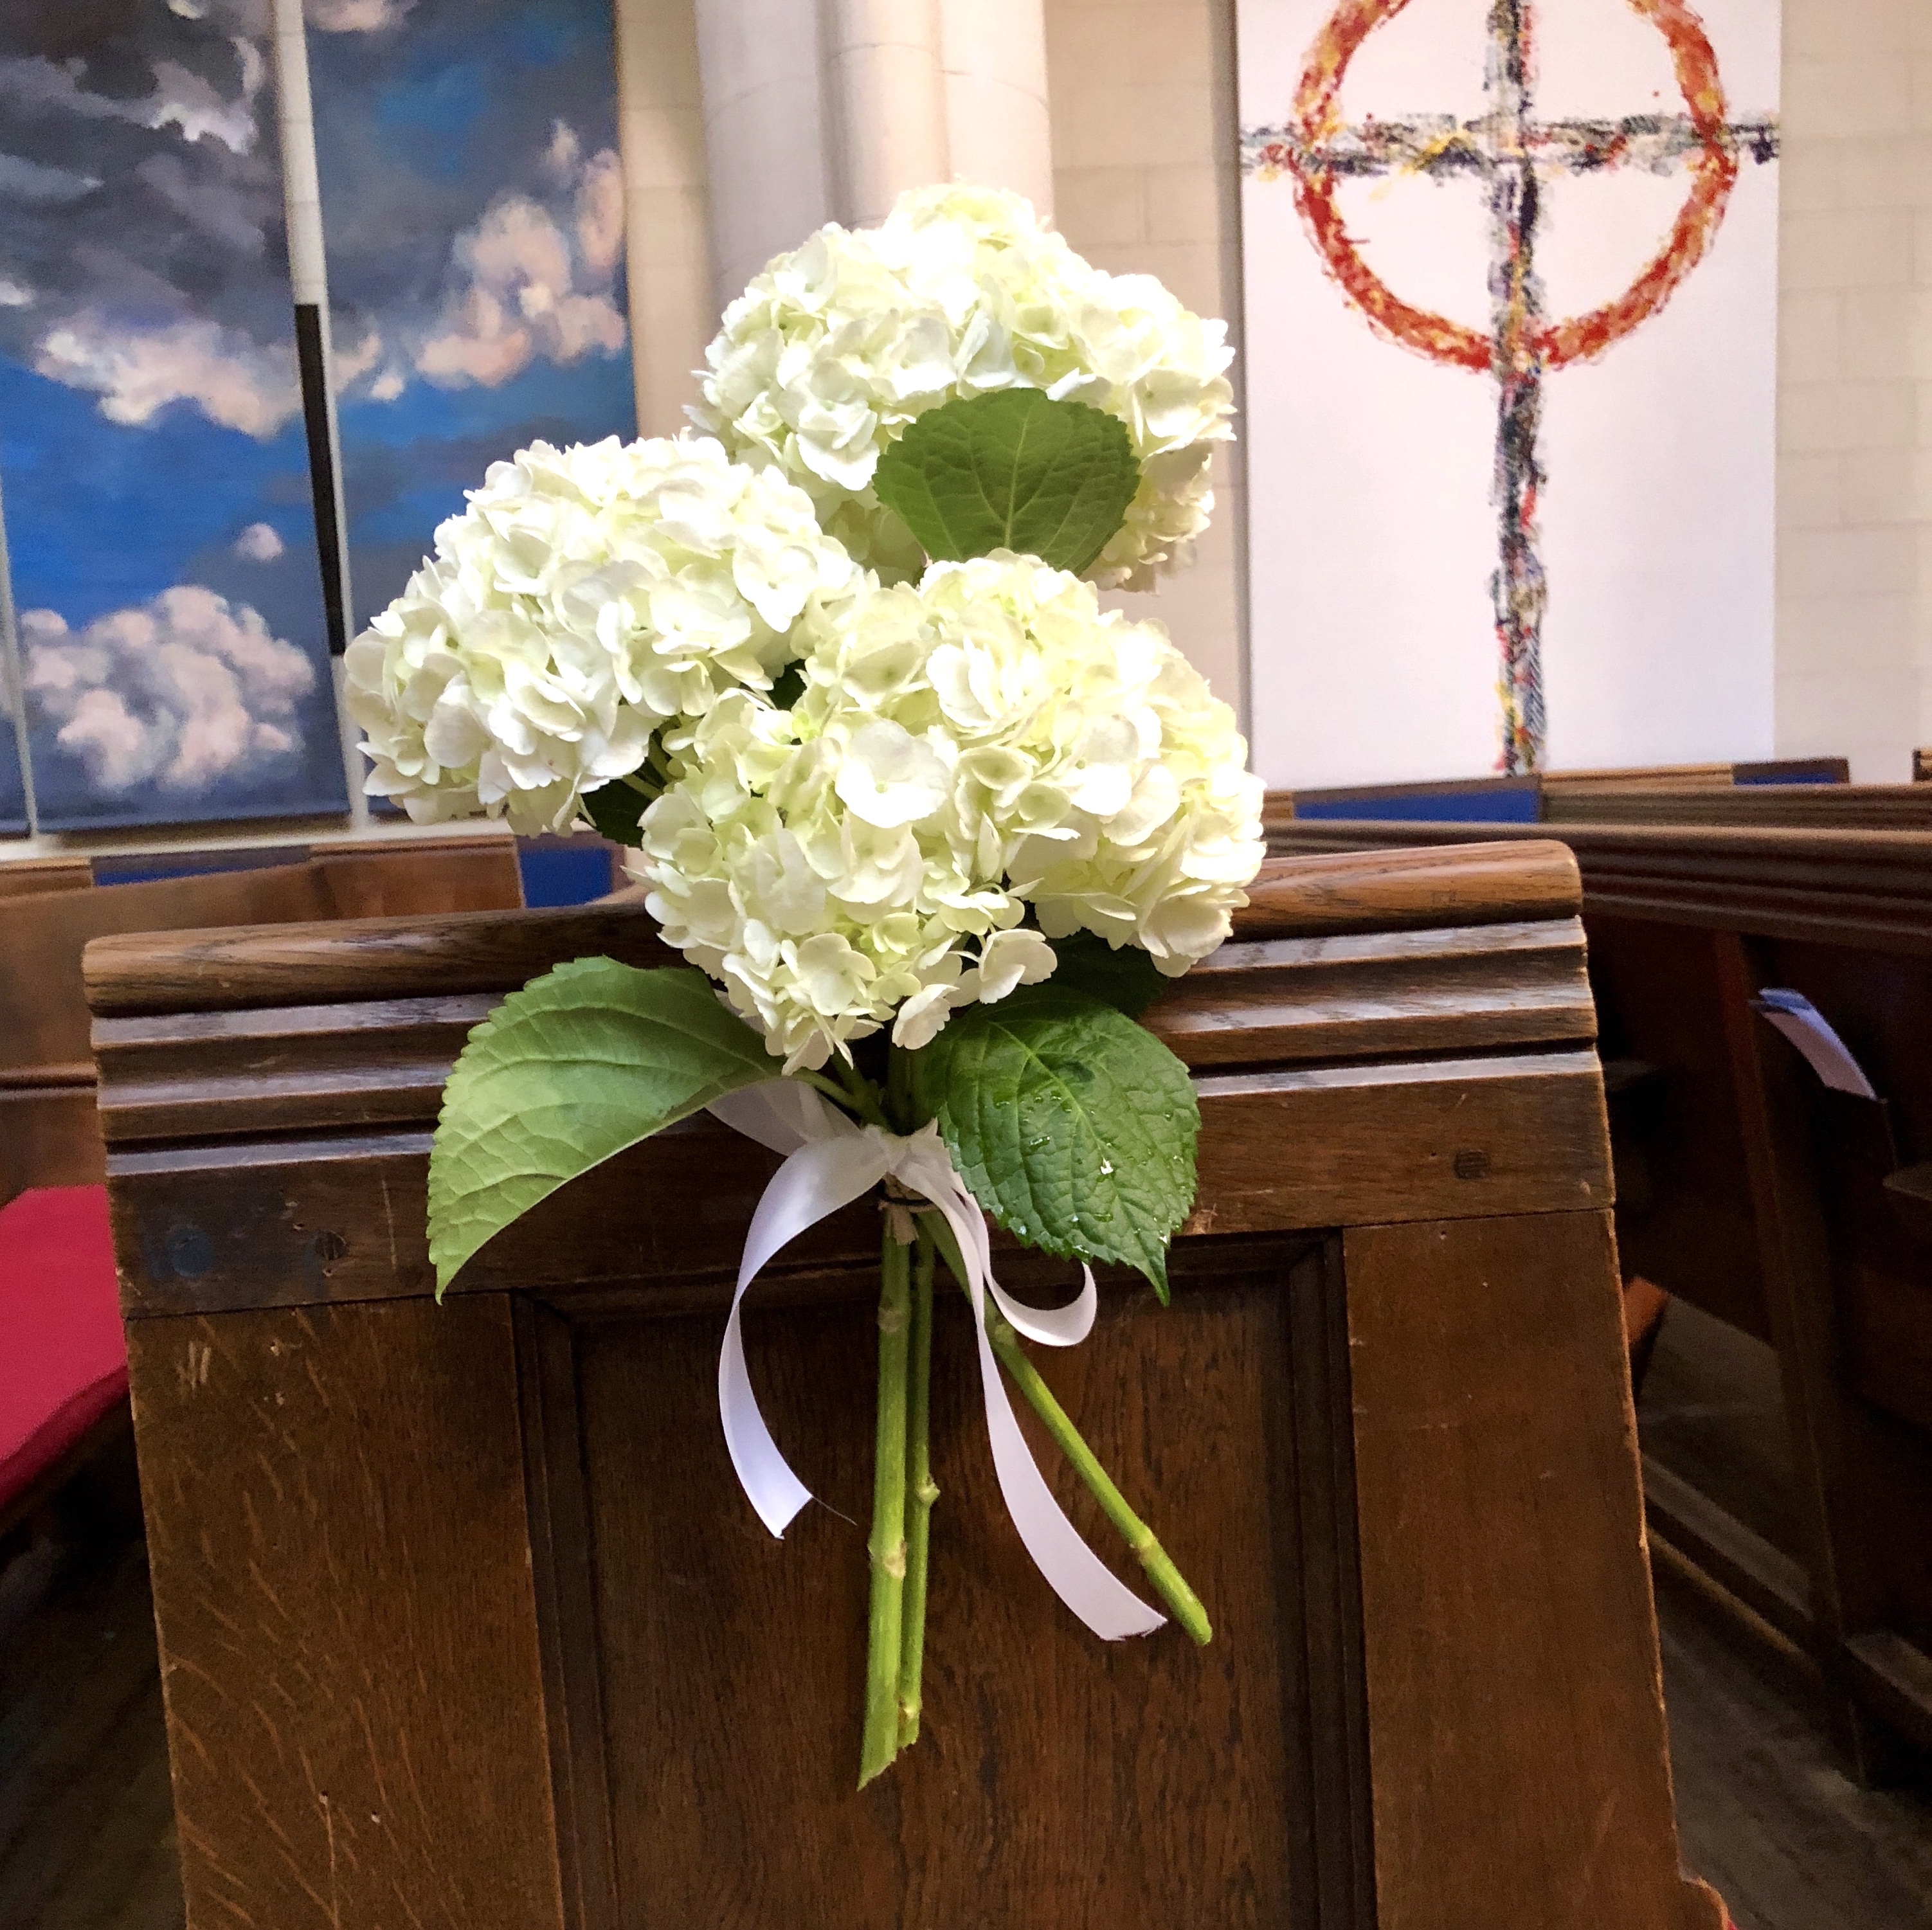
[[[1238,0],[1269,784],[1772,753],[1777,0]]]

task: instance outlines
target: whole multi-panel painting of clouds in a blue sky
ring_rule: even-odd
[[[493,460],[636,433],[614,27],[303,14],[355,628]],[[0,711],[43,829],[346,808],[282,195],[269,0],[0,10]]]

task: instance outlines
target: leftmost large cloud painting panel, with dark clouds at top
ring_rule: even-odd
[[[0,481],[44,829],[344,808],[267,0],[0,10]]]

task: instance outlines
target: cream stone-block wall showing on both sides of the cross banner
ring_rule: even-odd
[[[1233,0],[1045,0],[1059,226],[1238,317]],[[1777,750],[1903,782],[1932,744],[1932,0],[1785,0]],[[1238,456],[1155,599],[1244,682]],[[1418,773],[1434,775],[1434,773]]]

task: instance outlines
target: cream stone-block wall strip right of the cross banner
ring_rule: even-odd
[[[1932,742],[1932,4],[1785,0],[1777,750]]]

